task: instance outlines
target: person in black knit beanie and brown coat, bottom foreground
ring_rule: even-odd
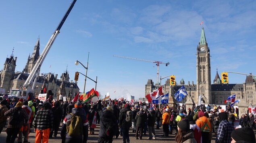
[[[178,133],[175,137],[177,143],[197,143],[193,129],[190,129],[189,120],[183,119],[178,123]]]

